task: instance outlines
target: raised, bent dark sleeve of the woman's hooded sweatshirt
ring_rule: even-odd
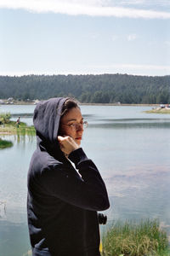
[[[75,164],[81,176],[72,166],[49,166],[42,172],[41,177],[42,186],[48,195],[91,211],[109,208],[105,183],[94,162],[88,159],[82,148],[71,152],[69,159]]]

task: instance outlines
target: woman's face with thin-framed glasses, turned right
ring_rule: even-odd
[[[79,108],[71,108],[68,113],[60,119],[59,133],[61,136],[70,136],[75,142],[80,145],[82,141],[83,133],[83,122],[82,113]],[[75,124],[77,127],[75,127]],[[73,126],[71,126],[73,125]]]

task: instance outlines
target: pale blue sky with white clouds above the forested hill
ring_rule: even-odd
[[[170,75],[170,0],[0,0],[0,75]]]

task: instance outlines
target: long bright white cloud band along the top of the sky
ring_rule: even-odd
[[[165,11],[116,7],[111,6],[109,0],[0,0],[0,8],[26,9],[37,13],[52,12],[65,15],[170,19],[170,13]]]

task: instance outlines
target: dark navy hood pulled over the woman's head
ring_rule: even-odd
[[[37,147],[48,151],[55,158],[62,154],[57,140],[62,107],[67,98],[52,98],[38,102],[34,110],[33,123],[37,132]]]

